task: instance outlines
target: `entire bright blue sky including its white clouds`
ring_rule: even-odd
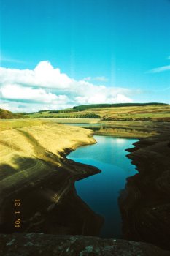
[[[170,103],[169,0],[0,0],[0,9],[1,107]]]

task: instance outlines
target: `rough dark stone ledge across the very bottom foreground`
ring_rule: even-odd
[[[3,256],[169,256],[152,244],[92,236],[54,236],[39,233],[0,235]]]

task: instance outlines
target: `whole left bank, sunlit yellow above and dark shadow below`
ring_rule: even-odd
[[[95,143],[92,132],[34,120],[1,121],[0,127],[0,232],[98,235],[102,218],[77,197],[74,181],[99,170],[62,157]]]

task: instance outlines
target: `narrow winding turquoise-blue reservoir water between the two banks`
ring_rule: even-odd
[[[125,149],[134,147],[132,143],[137,140],[98,135],[94,138],[96,144],[77,148],[67,158],[101,170],[101,173],[77,181],[77,194],[93,211],[104,217],[101,237],[121,238],[117,197],[125,187],[125,179],[136,173],[135,166],[125,157],[128,154]]]

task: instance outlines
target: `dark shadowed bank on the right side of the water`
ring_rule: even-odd
[[[170,249],[170,127],[135,143],[128,157],[138,174],[120,196],[123,238]]]

